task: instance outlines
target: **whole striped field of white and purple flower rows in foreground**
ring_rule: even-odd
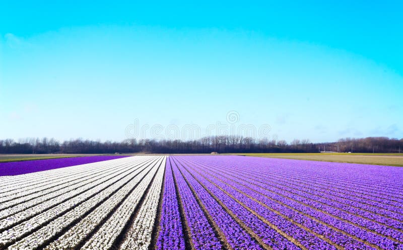
[[[0,249],[403,249],[403,169],[132,156],[3,176]]]

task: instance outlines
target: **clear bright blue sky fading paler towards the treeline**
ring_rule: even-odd
[[[287,141],[402,138],[402,12],[400,1],[2,2],[0,138],[121,140],[135,119],[203,134],[229,111]]]

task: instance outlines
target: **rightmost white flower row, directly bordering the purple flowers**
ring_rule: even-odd
[[[120,249],[148,249],[151,243],[151,234],[153,232],[153,227],[157,216],[158,202],[161,195],[161,186],[164,179],[165,161],[166,158],[163,161],[164,168],[161,168],[158,171],[158,174],[154,179],[143,206],[140,208],[139,214],[137,215],[132,226],[126,232],[127,237],[125,237],[126,239],[123,241]]]

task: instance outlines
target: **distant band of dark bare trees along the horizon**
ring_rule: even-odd
[[[253,139],[240,136],[210,136],[198,140],[126,139],[121,142],[93,141],[82,138],[60,142],[53,138],[0,140],[0,153],[283,153],[283,152],[360,152],[399,153],[403,138],[344,138],[337,142],[312,143],[308,139]]]

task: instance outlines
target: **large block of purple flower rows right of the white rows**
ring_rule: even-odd
[[[157,249],[185,248],[179,199],[196,249],[403,249],[398,168],[170,156],[165,173]]]

